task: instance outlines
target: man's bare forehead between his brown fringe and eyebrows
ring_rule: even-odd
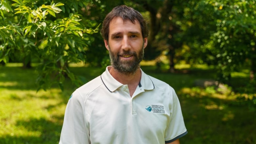
[[[117,32],[125,33],[130,31],[142,33],[138,20],[132,23],[130,20],[123,21],[121,17],[115,17],[109,23],[109,35]]]

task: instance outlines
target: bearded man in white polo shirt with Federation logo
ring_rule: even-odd
[[[60,144],[179,144],[187,134],[178,97],[140,69],[148,29],[133,8],[117,6],[101,30],[111,66],[72,94]]]

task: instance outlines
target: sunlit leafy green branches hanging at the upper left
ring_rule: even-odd
[[[25,64],[36,58],[39,89],[46,90],[57,82],[63,90],[66,75],[75,84],[82,84],[67,63],[86,60],[86,50],[94,41],[92,34],[98,31],[99,24],[79,14],[90,3],[72,1],[65,6],[61,1],[1,0],[1,23],[6,26],[0,29],[4,41],[0,61],[8,62],[11,56],[18,59],[17,52]]]

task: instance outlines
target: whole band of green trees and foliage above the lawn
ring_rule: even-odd
[[[249,63],[249,82],[255,83],[255,0],[1,0],[0,61],[39,63],[37,80],[43,89],[55,81],[62,88],[66,76],[80,85],[83,80],[67,64],[109,65],[98,29],[105,15],[122,4],[149,22],[146,60],[160,65],[165,55],[171,72],[181,60],[213,65],[225,83],[231,72]]]

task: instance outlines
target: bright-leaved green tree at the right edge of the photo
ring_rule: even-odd
[[[256,72],[256,1],[224,1],[217,5],[221,19],[217,20],[217,31],[213,35],[215,46],[219,48],[216,55],[222,77],[227,79],[230,72],[251,61],[251,79]]]

